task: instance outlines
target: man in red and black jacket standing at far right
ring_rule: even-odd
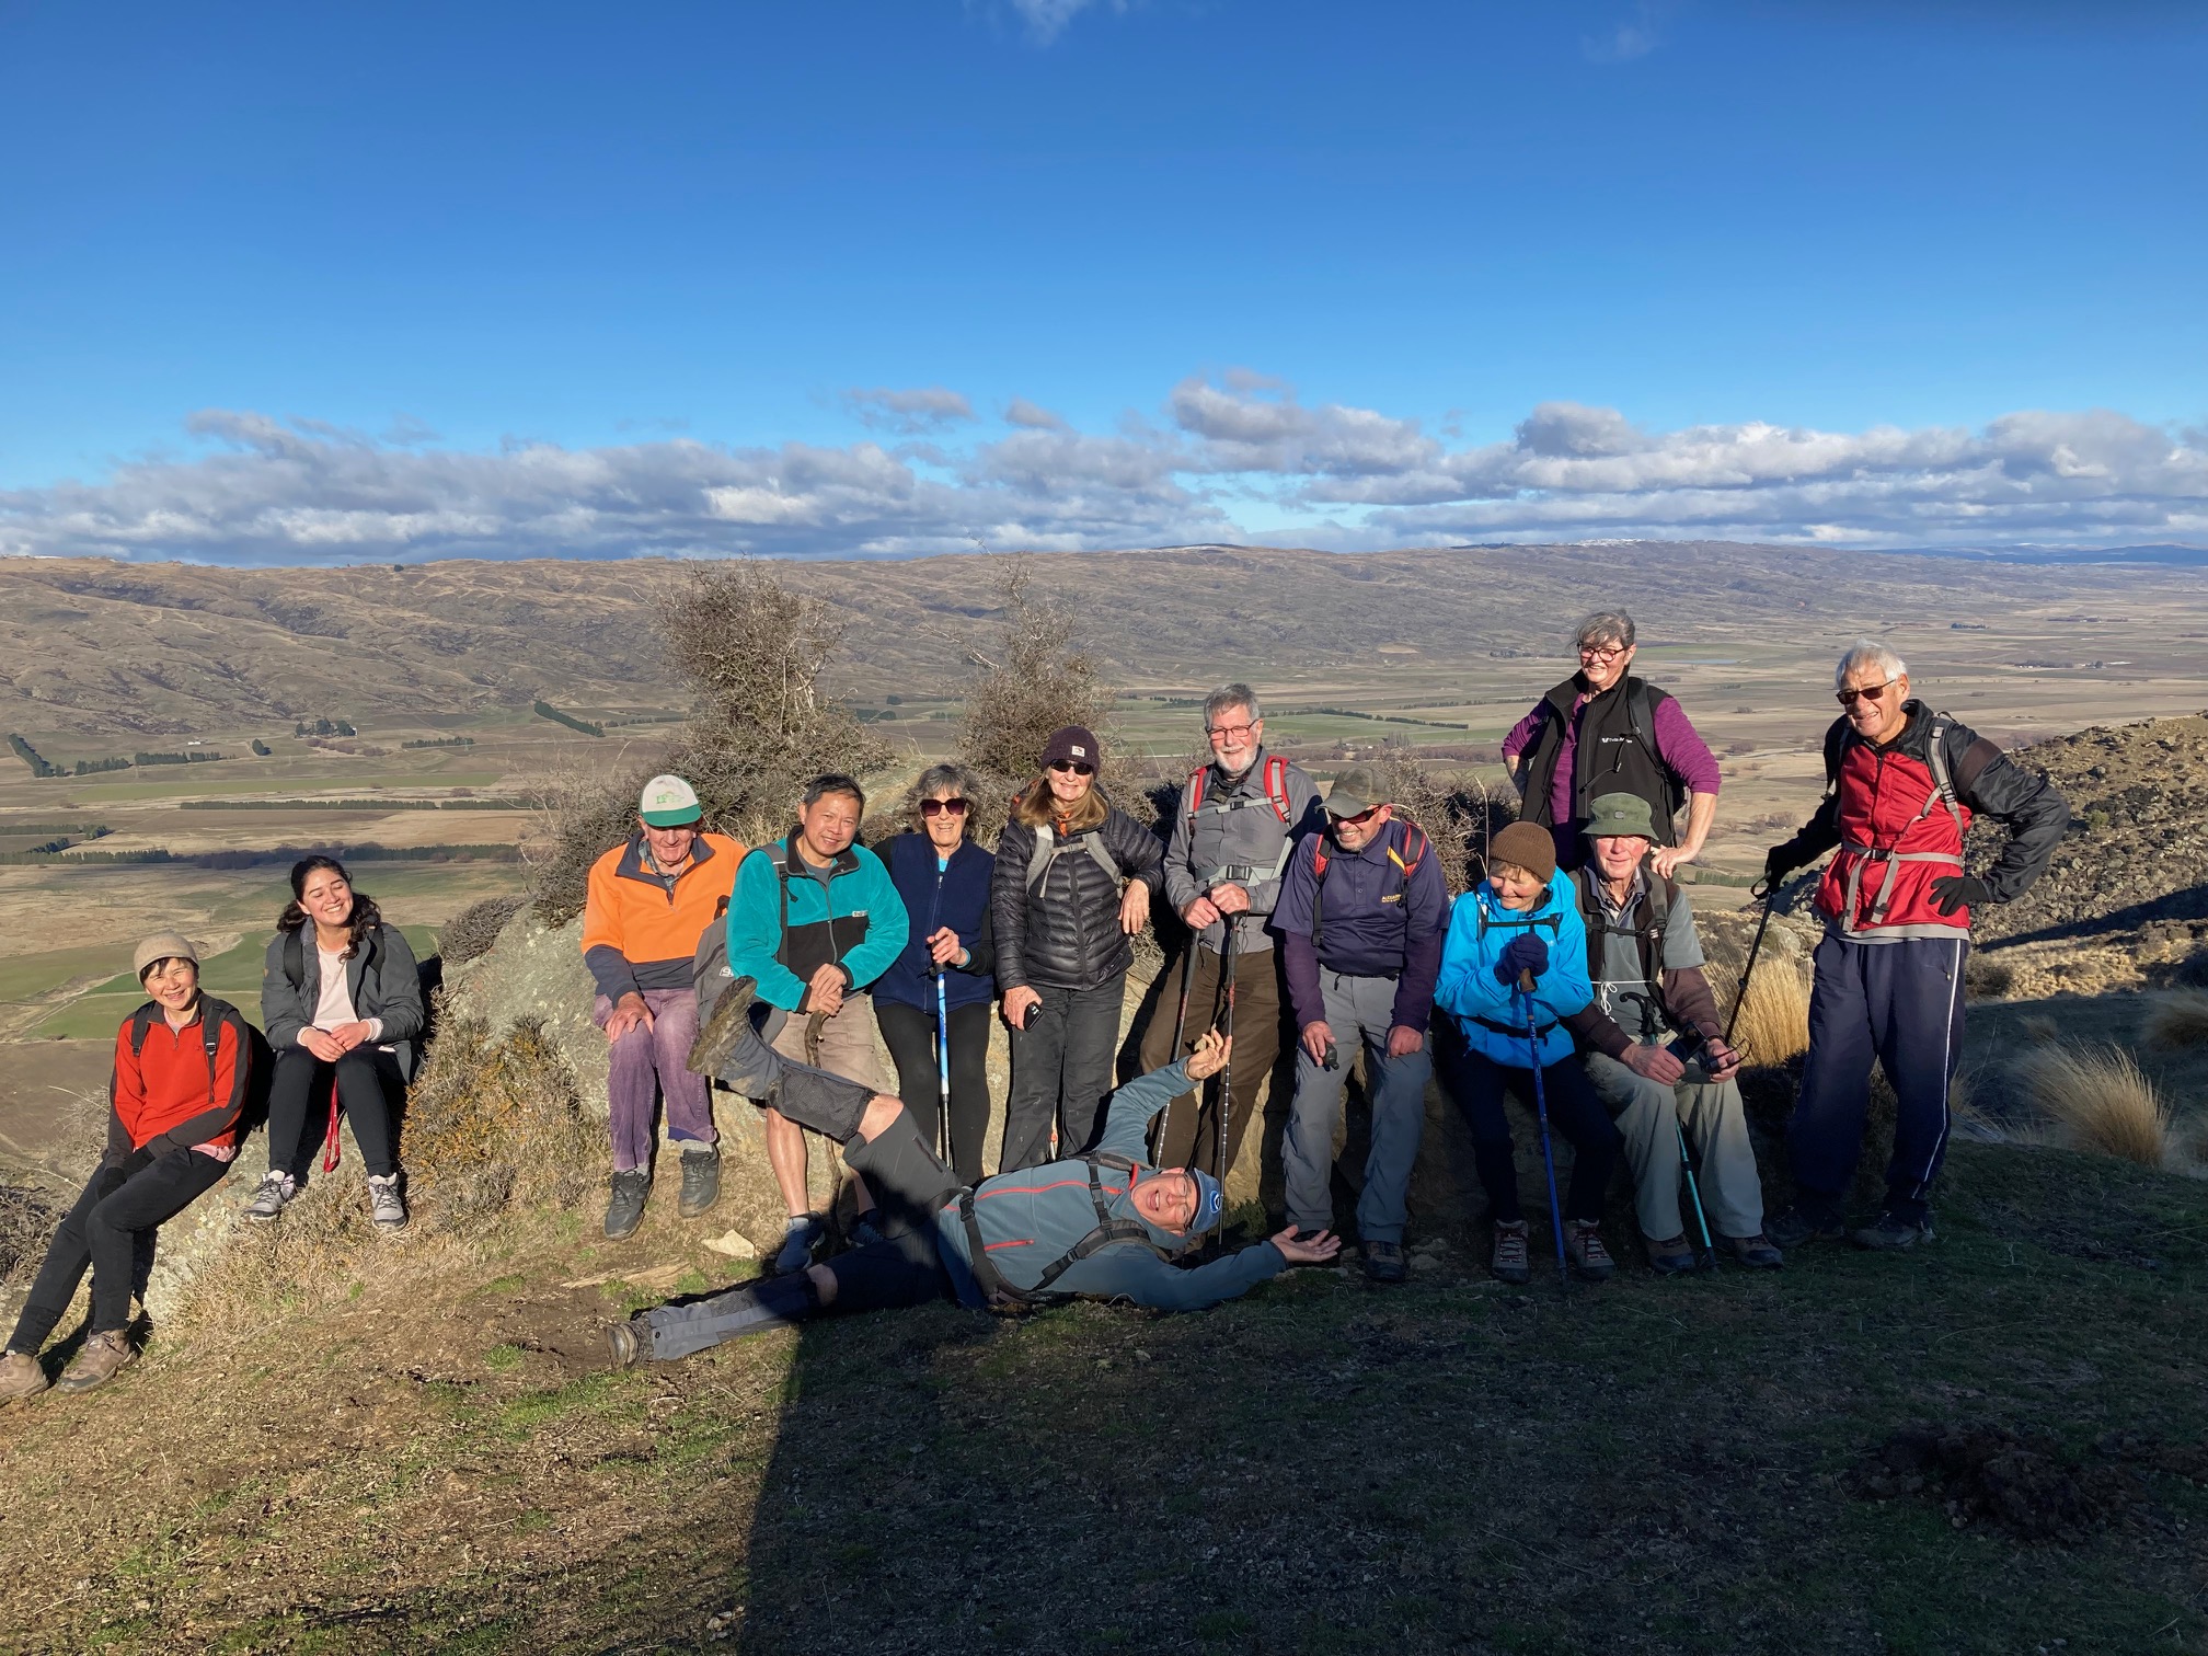
[[[1817,885],[1824,941],[1808,1066],[1786,1135],[1795,1203],[1764,1232],[1780,1248],[1841,1236],[1839,1203],[1861,1157],[1877,1058],[1897,1100],[1894,1155],[1886,1210],[1853,1241],[1912,1248],[1932,1239],[1928,1197],[1947,1153],[1970,912],[2007,903],[2040,877],[2069,806],[1976,731],[1910,700],[1910,669],[1886,645],[1855,645],[1833,682],[1841,718],[1824,735],[1824,804],[1764,859],[1775,885],[1839,850]],[[1983,877],[1963,863],[1974,815],[2009,830]]]

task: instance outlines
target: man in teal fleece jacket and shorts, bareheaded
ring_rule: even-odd
[[[729,972],[753,978],[775,1009],[766,1040],[777,1053],[868,1091],[894,1091],[874,1055],[866,989],[896,960],[912,921],[890,870],[852,843],[861,817],[866,793],[850,777],[806,784],[797,826],[735,870]],[[790,1214],[775,1270],[793,1272],[828,1241],[828,1219],[808,1208],[806,1135],[775,1108],[766,1111],[766,1164]],[[859,1195],[866,1208],[863,1186]]]

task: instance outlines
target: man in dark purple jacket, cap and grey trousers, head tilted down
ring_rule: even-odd
[[[1281,1146],[1289,1223],[1298,1234],[1334,1228],[1334,1124],[1362,1042],[1373,1126],[1358,1236],[1367,1276],[1400,1283],[1404,1190],[1426,1128],[1426,1020],[1448,932],[1448,888],[1426,835],[1395,819],[1371,771],[1334,779],[1327,830],[1307,835],[1287,859],[1272,930],[1301,1029],[1296,1106]]]

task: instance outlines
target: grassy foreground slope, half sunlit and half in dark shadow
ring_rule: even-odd
[[[1952,1166],[1941,1241],[1901,1259],[1561,1296],[1440,1236],[1400,1292],[1301,1272],[1186,1318],[941,1307],[631,1373],[594,1369],[592,1325],[729,1276],[696,1230],[607,1250],[590,1214],[537,1217],[466,1276],[369,1243],[320,1309],[181,1329],[106,1393],[0,1418],[0,1630],[2208,1649],[2199,1186],[2007,1146]]]

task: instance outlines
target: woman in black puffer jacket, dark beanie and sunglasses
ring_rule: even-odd
[[[1150,919],[1164,848],[1095,788],[1097,740],[1078,724],[1051,737],[1042,777],[996,841],[996,985],[1011,1025],[1011,1100],[998,1172],[1089,1148],[1104,1126],[1128,938]]]

